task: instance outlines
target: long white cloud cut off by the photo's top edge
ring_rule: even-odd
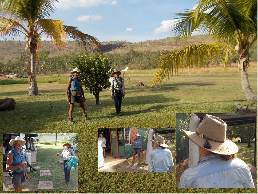
[[[55,2],[56,8],[69,9],[71,7],[93,7],[100,4],[115,5],[117,1],[112,0],[59,0]]]

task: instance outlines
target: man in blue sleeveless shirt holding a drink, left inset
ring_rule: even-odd
[[[25,158],[21,150],[25,143],[26,141],[23,141],[19,136],[9,142],[14,148],[7,154],[6,170],[9,170],[12,175],[14,191],[22,191],[22,183],[25,183],[26,179],[29,178],[25,170],[27,162],[24,163]]]

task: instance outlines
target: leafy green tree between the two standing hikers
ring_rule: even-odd
[[[109,78],[111,75],[111,63],[107,58],[99,56],[97,52],[93,57],[82,52],[77,56],[77,59],[71,62],[74,68],[79,68],[82,85],[86,87],[89,94],[95,96],[96,105],[99,104],[99,93],[101,90],[110,87]]]

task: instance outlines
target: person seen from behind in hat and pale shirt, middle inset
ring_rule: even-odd
[[[169,169],[174,166],[172,153],[167,149],[164,143],[164,137],[157,135],[154,140],[154,150],[150,152],[148,161],[148,171],[154,173],[168,173]]]

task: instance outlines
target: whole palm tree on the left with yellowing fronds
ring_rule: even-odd
[[[101,50],[100,42],[94,36],[84,34],[74,26],[63,25],[63,20],[47,19],[54,12],[55,2],[57,0],[0,0],[1,37],[15,38],[22,33],[27,40],[30,69],[27,64],[25,67],[30,80],[29,95],[38,94],[35,64],[43,35],[52,39],[58,48],[65,46],[70,39],[82,49],[97,47]]]

